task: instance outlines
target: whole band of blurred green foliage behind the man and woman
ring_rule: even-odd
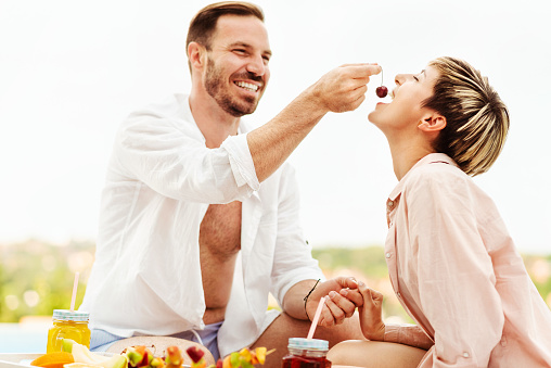
[[[17,322],[24,316],[51,316],[68,309],[75,272],[80,272],[75,307],[82,302],[95,244],[73,241],[65,245],[37,240],[0,244],[0,322]],[[356,276],[385,295],[385,316],[409,320],[395,299],[382,246],[315,249],[312,255],[328,275]],[[524,255],[538,291],[551,304],[551,255]]]

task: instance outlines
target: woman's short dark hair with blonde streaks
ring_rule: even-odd
[[[467,175],[487,172],[496,162],[509,131],[509,112],[478,71],[453,58],[430,63],[439,76],[434,94],[423,105],[446,117],[447,125],[434,142]]]

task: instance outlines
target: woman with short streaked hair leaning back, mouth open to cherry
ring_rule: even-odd
[[[385,244],[396,295],[417,325],[382,320],[383,295],[360,283],[363,334],[329,353],[360,367],[551,367],[551,312],[492,201],[470,176],[494,164],[505,105],[467,63],[440,58],[396,76],[370,122],[386,136],[399,180]]]

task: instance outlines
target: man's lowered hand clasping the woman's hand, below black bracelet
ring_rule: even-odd
[[[329,295],[329,299],[323,305],[318,326],[341,325],[345,318],[353,316],[357,307],[363,305],[356,279],[337,277],[320,283],[308,297],[306,310],[310,320],[313,319],[320,300],[325,295]]]

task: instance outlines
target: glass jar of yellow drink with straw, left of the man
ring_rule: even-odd
[[[88,312],[54,309],[53,326],[48,331],[47,353],[61,352],[63,339],[71,339],[90,348],[90,329]]]

